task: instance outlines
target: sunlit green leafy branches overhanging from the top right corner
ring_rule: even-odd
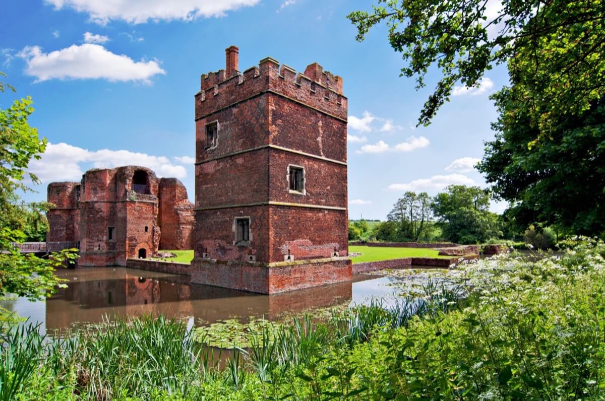
[[[378,0],[373,11],[348,19],[363,41],[385,22],[391,47],[402,53],[401,75],[425,75],[436,67],[442,77],[428,97],[419,124],[428,125],[449,100],[457,82],[479,85],[494,65],[509,65],[517,99],[549,134],[552,117],[580,114],[605,94],[605,18],[602,0]],[[495,11],[495,12],[494,12]],[[511,68],[512,67],[512,68]]]

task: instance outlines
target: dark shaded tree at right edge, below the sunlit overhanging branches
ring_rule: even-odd
[[[514,85],[513,85],[514,86]],[[495,198],[509,202],[518,225],[556,225],[584,235],[605,232],[605,97],[578,116],[553,119],[551,137],[537,135],[514,88],[492,96],[499,119],[478,169]]]

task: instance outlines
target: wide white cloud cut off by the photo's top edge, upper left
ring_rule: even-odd
[[[258,4],[260,0],[45,0],[56,10],[73,8],[88,14],[91,21],[105,25],[112,20],[130,24],[151,21],[193,21],[221,17],[227,11]]]

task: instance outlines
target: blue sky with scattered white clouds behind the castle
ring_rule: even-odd
[[[110,4],[111,3],[111,4]],[[50,181],[78,181],[92,167],[137,164],[177,177],[194,196],[194,94],[200,74],[240,70],[266,56],[298,71],[312,62],[344,79],[348,97],[350,218],[383,219],[403,192],[434,195],[446,184],[485,186],[473,169],[496,118],[489,94],[508,82],[502,67],[479,88],[457,88],[428,127],[414,128],[427,88],[399,77],[401,56],[380,27],[365,42],[345,18],[371,1],[30,0],[0,15],[0,71],[32,96],[30,123],[51,143],[31,171],[42,179],[25,200],[44,200]],[[494,205],[495,211],[502,205]]]

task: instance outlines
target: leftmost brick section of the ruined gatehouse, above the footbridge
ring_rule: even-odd
[[[76,242],[80,240],[80,212],[78,210],[80,183],[50,183],[47,201],[54,207],[47,212],[50,230],[48,242]]]

